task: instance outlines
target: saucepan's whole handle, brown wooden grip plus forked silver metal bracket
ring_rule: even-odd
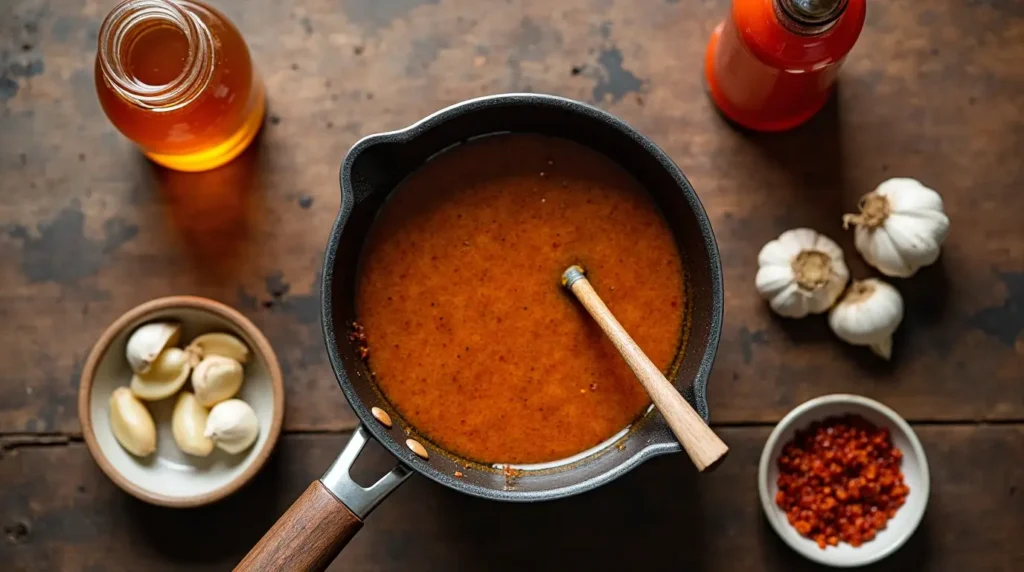
[[[278,519],[236,572],[311,572],[334,561],[367,515],[411,474],[399,464],[369,488],[353,481],[349,470],[367,439],[361,427],[355,430],[327,473]]]

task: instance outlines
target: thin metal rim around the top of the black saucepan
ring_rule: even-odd
[[[338,211],[338,216],[335,219],[334,226],[331,229],[331,236],[329,238],[327,251],[324,257],[321,282],[321,325],[324,331],[324,340],[327,345],[327,352],[331,362],[331,367],[338,380],[338,385],[345,394],[345,398],[348,400],[352,410],[355,411],[355,414],[358,416],[362,427],[368,430],[385,449],[398,458],[399,461],[439,484],[473,496],[498,500],[536,501],[561,498],[596,488],[604,483],[618,478],[651,457],[660,454],[678,452],[682,450],[682,448],[679,443],[675,441],[675,439],[654,441],[648,443],[633,455],[623,458],[623,460],[617,465],[590,479],[572,482],[564,487],[541,491],[516,490],[515,488],[512,488],[511,490],[501,490],[452,478],[451,476],[441,473],[434,467],[425,464],[422,459],[416,457],[411,451],[406,450],[404,447],[392,439],[387,434],[387,431],[385,431],[385,429],[375,421],[373,414],[370,412],[370,408],[359,399],[354,386],[349,379],[341,353],[338,349],[337,332],[335,331],[335,324],[333,321],[334,308],[332,293],[334,265],[342,230],[348,222],[348,218],[355,204],[355,196],[351,184],[351,169],[355,158],[357,158],[364,150],[374,145],[388,142],[404,143],[412,141],[423,133],[463,114],[472,113],[489,106],[500,107],[514,105],[542,105],[561,108],[563,111],[575,113],[591,120],[604,123],[605,125],[614,128],[623,136],[629,137],[634,142],[639,143],[647,152],[651,153],[683,192],[689,209],[692,211],[697,220],[700,235],[703,239],[703,248],[708,253],[710,265],[710,303],[712,307],[710,323],[707,324],[708,344],[692,379],[694,400],[700,405],[700,407],[698,407],[698,411],[700,411],[705,416],[705,421],[708,421],[708,378],[711,375],[712,365],[715,361],[715,355],[718,350],[724,309],[722,267],[719,258],[718,245],[715,240],[715,234],[711,227],[711,221],[708,218],[708,214],[705,211],[703,206],[700,204],[699,199],[694,192],[693,187],[686,179],[686,176],[664,150],[655,145],[650,139],[615,116],[573,99],[534,93],[507,93],[478,97],[440,109],[403,129],[368,135],[356,141],[356,143],[352,145],[352,147],[345,155],[345,159],[342,162],[339,173],[341,207]],[[671,437],[671,433],[669,436]],[[568,471],[571,472],[573,469],[568,469]]]

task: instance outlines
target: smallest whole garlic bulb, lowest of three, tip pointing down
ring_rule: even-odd
[[[828,314],[828,325],[841,340],[867,346],[880,357],[893,353],[893,333],[903,321],[903,297],[878,278],[856,280]]]

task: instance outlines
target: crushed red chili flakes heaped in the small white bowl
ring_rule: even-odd
[[[889,430],[859,415],[815,422],[782,448],[775,503],[819,547],[859,546],[906,500],[902,458]]]

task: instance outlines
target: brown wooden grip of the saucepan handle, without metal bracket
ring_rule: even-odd
[[[313,481],[234,570],[325,570],[360,528],[362,521],[338,500],[324,483]]]

